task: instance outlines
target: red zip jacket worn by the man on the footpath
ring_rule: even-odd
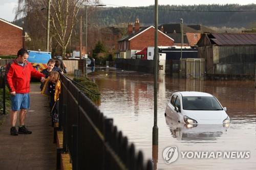
[[[45,75],[34,69],[28,61],[24,63],[23,67],[18,65],[14,59],[6,66],[6,80],[10,92],[29,93],[31,77],[40,79],[41,77],[45,77]]]

